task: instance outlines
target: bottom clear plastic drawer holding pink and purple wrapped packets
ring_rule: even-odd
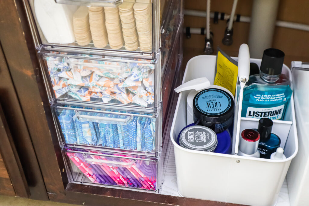
[[[69,182],[158,193],[162,161],[146,156],[62,150]]]

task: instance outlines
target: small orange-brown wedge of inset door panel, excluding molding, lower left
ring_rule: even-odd
[[[15,196],[15,190],[0,153],[0,194]]]

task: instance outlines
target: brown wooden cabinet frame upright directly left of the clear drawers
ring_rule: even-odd
[[[40,164],[40,168],[29,168],[36,175],[36,178],[32,181],[35,181],[33,184],[39,189],[36,190],[36,196],[32,198],[48,200],[46,189],[49,192],[64,195],[64,186],[44,111],[44,107],[46,107],[50,115],[49,104],[46,101],[45,89],[38,69],[36,52],[22,1],[0,1],[0,19],[2,49],[34,146],[36,158]],[[45,97],[43,101],[41,95],[43,99]],[[52,121],[51,118],[49,120]],[[33,161],[36,161],[36,158]],[[43,173],[46,188],[41,179],[40,170]]]

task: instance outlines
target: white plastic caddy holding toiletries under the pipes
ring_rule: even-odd
[[[237,58],[235,60],[237,61]],[[261,60],[250,59],[250,62],[260,65]],[[188,61],[182,83],[206,77],[213,84],[215,64],[216,56],[193,57]],[[291,77],[290,69],[286,65],[283,65],[282,73]],[[293,95],[284,121],[274,120],[272,130],[281,138],[286,159],[270,160],[196,151],[178,145],[178,134],[186,126],[186,101],[189,92],[180,93],[171,127],[179,194],[236,204],[275,205],[290,162],[298,151]],[[242,101],[242,97],[239,97],[239,101]],[[235,109],[238,109],[238,104],[235,105]],[[257,119],[240,119],[240,131],[257,128],[257,125]],[[235,142],[233,144],[234,148]],[[232,153],[234,154],[234,151]]]

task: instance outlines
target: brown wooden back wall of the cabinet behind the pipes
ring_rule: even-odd
[[[251,16],[252,0],[239,0],[235,14]],[[211,1],[211,12],[224,12],[231,14],[232,0]],[[205,0],[184,0],[184,8],[206,12]],[[277,20],[289,21],[295,23],[309,24],[308,18],[309,1],[298,0],[297,3],[291,0],[280,0]],[[214,33],[214,55],[216,55],[219,46],[230,56],[238,56],[240,44],[248,43],[250,23],[235,22],[233,24],[233,44],[226,46],[222,44],[222,38],[226,28],[226,20],[219,20],[218,24],[213,23],[210,19],[210,30]],[[206,18],[196,16],[184,16],[184,27],[206,27]],[[184,48],[196,50],[197,54],[204,54],[205,36],[200,34],[191,34],[191,38],[184,37]],[[263,38],[263,37],[261,37]],[[309,32],[275,27],[273,36],[273,48],[278,48],[286,54],[284,63],[290,66],[291,61],[309,62]],[[190,55],[190,53],[189,53]]]

